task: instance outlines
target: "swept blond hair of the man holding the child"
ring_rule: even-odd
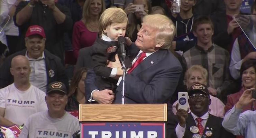
[[[170,49],[175,36],[175,26],[171,19],[162,14],[147,15],[142,20],[143,24],[157,29],[156,44],[163,44],[162,49]]]

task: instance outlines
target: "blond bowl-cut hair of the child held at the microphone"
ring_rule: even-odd
[[[128,18],[124,10],[121,8],[108,8],[100,16],[99,30],[100,34],[105,34],[104,29],[109,27],[112,23],[128,23]]]

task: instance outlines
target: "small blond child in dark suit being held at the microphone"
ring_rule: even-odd
[[[100,89],[110,89],[115,91],[117,80],[117,68],[107,67],[108,61],[115,61],[115,55],[120,57],[118,47],[118,37],[125,36],[128,23],[127,14],[120,8],[108,8],[100,17],[100,37],[92,46],[93,70],[96,73],[95,84]],[[128,39],[128,38],[127,38]],[[128,39],[129,40],[129,39]],[[131,41],[129,41],[131,43]],[[131,67],[128,57],[125,59],[126,67]]]

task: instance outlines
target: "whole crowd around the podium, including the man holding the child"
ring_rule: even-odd
[[[2,0],[0,127],[71,138],[79,104],[167,103],[167,138],[256,138],[256,1],[242,1]]]

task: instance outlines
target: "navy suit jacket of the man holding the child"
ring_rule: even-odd
[[[129,49],[131,55],[136,57],[139,49],[135,45],[131,45]],[[131,74],[126,74],[125,103],[166,103],[174,93],[181,73],[181,64],[170,51],[156,51],[144,59]],[[90,98],[91,91],[95,89],[90,84],[93,79],[89,79],[89,76],[86,77],[86,80],[90,80],[86,81],[86,99]],[[121,103],[122,82],[115,93],[114,103]]]

